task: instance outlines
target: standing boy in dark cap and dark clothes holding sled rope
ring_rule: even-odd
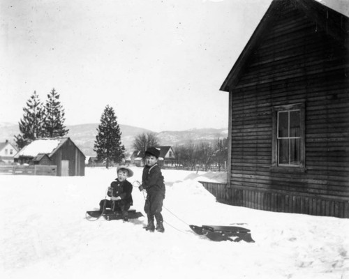
[[[157,165],[160,151],[155,147],[149,147],[145,151],[145,166],[142,174],[142,185],[140,191],[147,191],[147,199],[145,200],[144,211],[147,213],[148,225],[145,227],[147,231],[154,232],[154,217],[156,219],[156,230],[164,232],[163,216],[163,199],[165,199],[165,184],[163,183],[163,175],[161,169]]]

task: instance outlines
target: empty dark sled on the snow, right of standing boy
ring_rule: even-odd
[[[201,227],[195,225],[189,225],[195,234],[205,235],[212,241],[246,241],[255,242],[252,239],[251,231],[244,227],[234,226],[214,226],[214,225],[202,225]]]

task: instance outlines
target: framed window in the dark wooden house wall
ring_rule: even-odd
[[[273,107],[273,167],[304,168],[304,104]]]

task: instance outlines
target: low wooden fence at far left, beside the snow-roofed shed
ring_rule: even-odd
[[[1,165],[0,174],[11,175],[57,175],[56,165]]]

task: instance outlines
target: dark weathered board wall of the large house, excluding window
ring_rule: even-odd
[[[267,30],[230,91],[230,202],[279,211],[296,201],[308,204],[304,213],[336,216],[336,202],[348,211],[349,200],[348,50],[292,1]],[[273,168],[272,107],[297,103],[305,105],[305,171]]]

